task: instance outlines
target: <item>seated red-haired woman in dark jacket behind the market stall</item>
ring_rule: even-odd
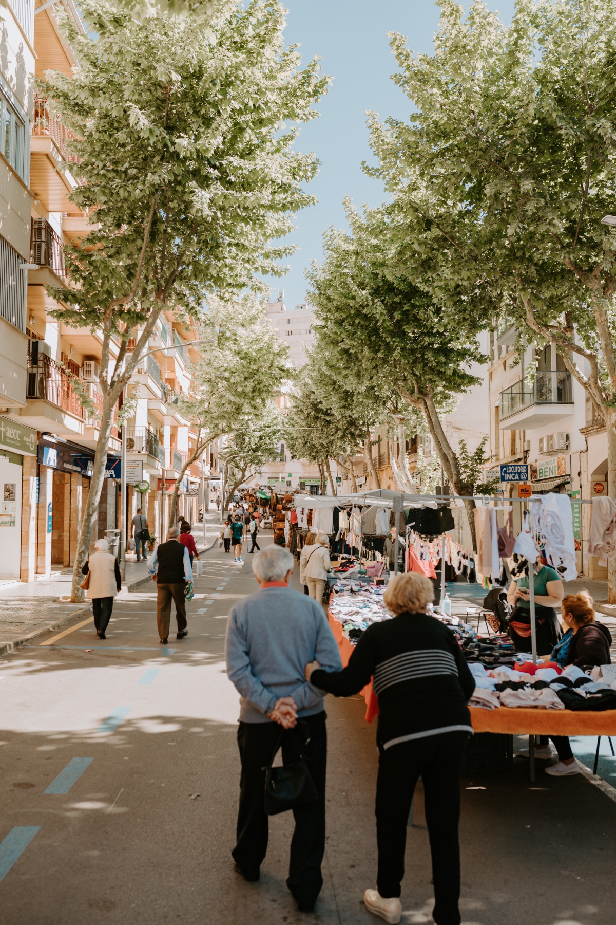
[[[597,623],[593,610],[593,599],[587,591],[579,594],[567,594],[562,598],[562,624],[566,626],[567,633],[562,637],[561,651],[566,646],[566,655],[562,664],[576,665],[582,670],[595,665],[610,665],[611,634],[607,626]],[[567,639],[569,640],[566,645]],[[561,646],[561,644],[559,644]],[[552,652],[552,659],[559,661],[559,646]],[[559,662],[561,663],[561,662]],[[558,761],[546,768],[546,773],[552,777],[568,777],[578,774],[580,769],[574,759],[568,735],[550,735],[556,746]],[[527,757],[528,749],[523,748],[521,755]],[[535,757],[550,760],[552,751],[547,735],[538,736],[538,747]]]

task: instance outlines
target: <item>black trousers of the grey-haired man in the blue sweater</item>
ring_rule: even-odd
[[[303,726],[303,724],[306,726]],[[320,865],[325,852],[325,773],[327,767],[327,729],[325,712],[305,717],[293,730],[283,734],[283,763],[296,759],[296,746],[290,736],[303,744],[308,727],[310,741],[306,748],[306,763],[314,781],[318,803],[307,803],[293,810],[296,828],[291,840],[289,876],[286,881],[297,902],[312,906],[323,878]],[[267,852],[269,817],[263,808],[265,771],[276,747],[282,726],[275,722],[240,722],[237,745],[242,761],[239,784],[237,840],[232,855],[239,867],[256,874]]]

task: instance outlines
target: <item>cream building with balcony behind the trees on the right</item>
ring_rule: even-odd
[[[564,491],[591,499],[607,491],[605,425],[593,417],[586,392],[564,366],[553,344],[514,349],[517,332],[506,320],[491,338],[489,367],[490,451],[487,480],[498,485],[498,464],[527,462],[533,492]],[[581,511],[580,511],[581,508]],[[587,555],[589,505],[574,506],[578,571],[606,578]],[[519,528],[519,515],[515,525]]]

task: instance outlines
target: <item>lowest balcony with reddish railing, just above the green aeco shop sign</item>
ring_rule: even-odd
[[[83,434],[86,419],[72,377],[45,354],[28,369],[28,404],[22,410],[24,424],[54,434]]]

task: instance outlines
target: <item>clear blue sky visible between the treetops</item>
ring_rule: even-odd
[[[384,198],[380,182],[361,169],[371,157],[366,110],[381,119],[405,119],[411,107],[390,80],[396,68],[387,32],[402,32],[409,48],[430,54],[439,7],[430,0],[286,0],[286,6],[286,43],[299,43],[304,61],[320,56],[323,72],[332,77],[320,117],[302,127],[296,142],[299,151],[313,151],[320,159],[319,175],[308,187],[319,203],[296,216],[290,240],[299,250],[287,262],[289,273],[272,280],[272,297],[284,289],[287,308],[294,308],[305,299],[306,267],[312,258],[320,261],[323,231],[344,227],[344,197],[356,205],[377,205]],[[511,19],[513,0],[489,0],[488,6]]]

